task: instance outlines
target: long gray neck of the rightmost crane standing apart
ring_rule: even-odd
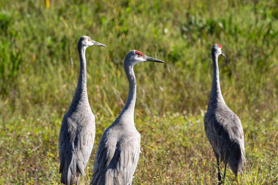
[[[217,53],[211,52],[212,63],[213,63],[213,78],[212,78],[212,87],[211,95],[209,97],[208,108],[214,108],[218,103],[225,103],[220,89],[219,81],[219,69],[218,69],[218,55]]]

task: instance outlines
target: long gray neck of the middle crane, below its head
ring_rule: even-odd
[[[129,59],[126,59],[129,60]],[[128,83],[129,83],[129,91],[127,96],[127,101],[125,103],[122,112],[118,116],[118,119],[128,119],[127,121],[121,121],[123,123],[129,123],[134,125],[134,107],[136,101],[136,79],[133,72],[133,65],[130,62],[124,63],[125,73],[127,75]]]

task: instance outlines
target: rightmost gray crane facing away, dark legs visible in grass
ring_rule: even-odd
[[[204,116],[204,128],[216,157],[218,180],[221,184],[225,180],[227,164],[237,176],[238,173],[242,174],[246,161],[242,125],[237,115],[228,108],[221,94],[218,69],[219,55],[226,58],[221,45],[215,44],[211,50],[213,80],[208,110]],[[221,179],[219,163],[222,161],[225,164],[223,179]]]

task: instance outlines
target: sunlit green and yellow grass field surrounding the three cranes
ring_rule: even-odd
[[[142,153],[133,184],[217,184],[203,127],[214,43],[228,56],[220,84],[242,121],[247,159],[242,176],[228,170],[226,184],[278,184],[277,19],[276,1],[1,1],[0,184],[60,184],[58,134],[82,35],[107,48],[86,51],[96,140],[81,184],[126,100],[131,49],[166,62],[134,67]]]

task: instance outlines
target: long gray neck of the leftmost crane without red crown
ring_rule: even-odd
[[[86,57],[85,57],[85,47],[78,45],[78,54],[80,60],[80,71],[78,83],[72,99],[71,107],[76,105],[89,104],[88,95],[87,95],[87,82],[86,82]]]

